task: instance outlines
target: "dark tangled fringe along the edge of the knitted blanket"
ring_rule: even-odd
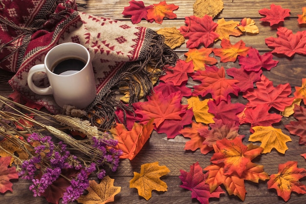
[[[133,113],[132,103],[139,100],[139,94],[142,88],[144,95],[150,94],[153,89],[152,77],[159,77],[164,73],[163,67],[175,66],[178,59],[176,53],[164,44],[164,36],[158,35],[153,30],[153,37],[147,47],[144,60],[127,63],[124,67],[125,72],[114,83],[114,86],[107,94],[101,97],[101,100],[87,111],[87,120],[100,129],[109,130],[115,124],[117,116],[115,110],[120,108],[124,112],[126,120],[126,111]],[[160,68],[160,71],[147,71],[147,66]],[[119,87],[127,86],[130,91],[130,101],[128,106],[116,98],[115,92]],[[125,123],[125,121],[124,121]]]

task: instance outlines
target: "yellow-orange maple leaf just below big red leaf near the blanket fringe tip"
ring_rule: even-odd
[[[199,69],[205,70],[205,65],[215,65],[218,62],[216,58],[209,56],[212,51],[212,48],[206,47],[200,49],[189,49],[189,51],[185,53],[187,57],[185,62],[192,61],[195,66],[195,71]]]

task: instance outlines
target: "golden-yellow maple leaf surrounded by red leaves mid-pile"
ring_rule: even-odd
[[[198,96],[193,96],[187,99],[188,109],[192,108],[194,112],[195,119],[197,122],[202,122],[205,124],[215,123],[213,118],[215,117],[214,114],[208,113],[208,101],[211,99],[205,99],[200,101]]]

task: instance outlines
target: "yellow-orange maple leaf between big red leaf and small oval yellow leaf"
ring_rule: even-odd
[[[242,32],[238,29],[236,29],[239,22],[237,21],[225,21],[224,18],[218,20],[218,27],[216,28],[215,32],[219,34],[217,40],[222,40],[223,38],[229,40],[229,36],[240,36]]]

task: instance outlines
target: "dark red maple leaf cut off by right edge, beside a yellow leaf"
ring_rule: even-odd
[[[306,145],[306,108],[294,105],[293,116],[298,121],[290,121],[289,124],[285,125],[285,128],[290,134],[299,136],[299,144]]]

